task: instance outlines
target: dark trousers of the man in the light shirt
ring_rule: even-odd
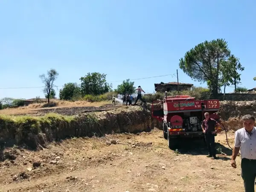
[[[241,177],[244,180],[245,192],[254,192],[256,160],[249,160],[245,158],[241,160]]]

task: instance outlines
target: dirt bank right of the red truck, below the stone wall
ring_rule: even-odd
[[[218,114],[226,128],[242,128],[241,117],[246,114],[256,115],[256,101],[223,101]]]

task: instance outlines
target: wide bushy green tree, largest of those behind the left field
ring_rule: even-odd
[[[112,84],[106,81],[106,75],[103,73],[87,73],[81,77],[81,93],[83,95],[102,95],[111,90]]]

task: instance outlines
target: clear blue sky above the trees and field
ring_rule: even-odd
[[[0,87],[40,87],[54,68],[56,85],[80,83],[88,72],[122,81],[176,73],[186,51],[224,38],[245,70],[241,86],[256,87],[256,1],[8,0],[0,2]],[[145,92],[175,76],[136,80]],[[121,82],[113,82],[115,88]],[[59,87],[61,88],[61,87]],[[227,92],[233,87],[228,87]],[[0,98],[44,97],[41,88],[0,89]]]

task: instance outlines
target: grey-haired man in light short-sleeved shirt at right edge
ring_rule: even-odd
[[[256,177],[256,129],[255,117],[244,115],[244,127],[235,133],[235,146],[233,148],[231,166],[236,168],[236,157],[241,149],[241,177],[244,180],[245,192],[254,192]]]

